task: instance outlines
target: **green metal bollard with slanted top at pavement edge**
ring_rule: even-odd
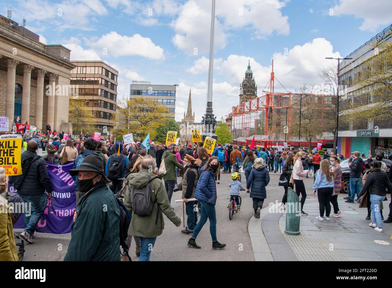
[[[289,235],[299,235],[299,220],[301,219],[301,204],[292,188],[287,188],[286,229]]]

